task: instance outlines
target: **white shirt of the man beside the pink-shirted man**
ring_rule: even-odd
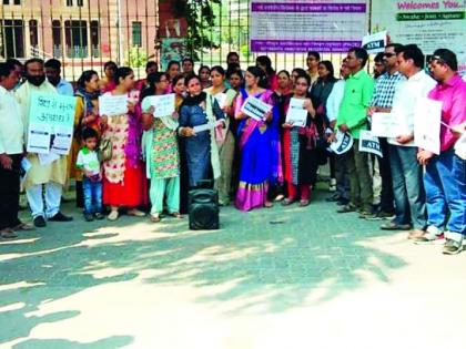
[[[393,96],[392,114],[397,119],[397,124],[402,132],[401,135],[414,133],[414,112],[417,101],[427,97],[427,93],[435,88],[437,83],[434,79],[421,70],[408,80],[401,81],[396,85]],[[389,144],[415,146],[414,141],[405,144],[396,142],[395,138],[388,138]]]

